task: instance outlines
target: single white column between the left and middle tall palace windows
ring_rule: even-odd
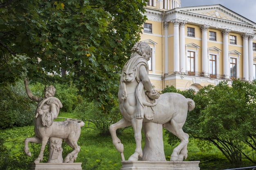
[[[202,72],[204,73],[204,77],[208,77],[207,30],[209,26],[202,25],[200,29],[202,30]]]

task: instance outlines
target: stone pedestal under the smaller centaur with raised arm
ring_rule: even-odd
[[[31,163],[31,170],[82,170],[82,163]]]

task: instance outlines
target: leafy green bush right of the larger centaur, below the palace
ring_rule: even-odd
[[[200,139],[202,147],[217,146],[231,163],[243,158],[256,163],[255,94],[255,82],[240,80],[201,88],[193,97],[195,110],[188,114],[185,131]]]

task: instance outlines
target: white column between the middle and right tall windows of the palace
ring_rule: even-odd
[[[223,74],[225,79],[229,79],[229,32],[230,30],[224,29],[221,31],[223,35]]]

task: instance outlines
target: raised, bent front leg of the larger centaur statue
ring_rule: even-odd
[[[116,147],[117,151],[121,153],[122,161],[124,159],[124,145],[121,143],[120,139],[117,137],[117,129],[125,128],[127,126],[131,126],[132,123],[130,121],[126,121],[126,119],[122,118],[117,123],[109,126],[110,135],[112,137],[112,143]]]

